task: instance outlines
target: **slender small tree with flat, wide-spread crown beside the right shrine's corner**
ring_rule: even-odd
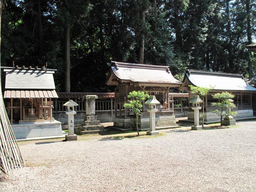
[[[200,118],[202,118],[202,127],[204,128],[204,97],[212,90],[214,89],[215,86],[209,86],[209,88],[207,87],[197,87],[197,86],[192,86],[192,85],[189,85],[189,89],[191,90],[191,93],[193,94],[197,94],[199,95],[200,99],[203,100],[203,107],[202,107],[202,110],[203,110],[203,113],[200,113]]]

